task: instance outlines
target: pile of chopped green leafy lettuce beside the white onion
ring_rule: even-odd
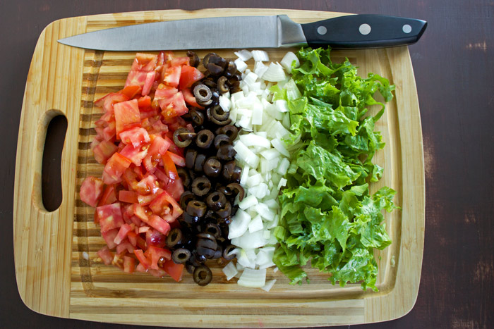
[[[297,56],[301,66],[293,66],[292,80],[272,88],[275,100],[288,102],[293,132],[273,261],[291,284],[308,280],[301,266],[310,261],[333,285],[361,282],[377,291],[373,249],[391,244],[382,209],[397,206],[389,187],[369,193],[369,182],[382,176],[373,155],[385,146],[374,131],[385,106],[373,96],[390,101],[394,86],[379,75],[359,77],[348,59],[332,63],[330,49],[301,49]],[[375,104],[382,109],[366,116]]]

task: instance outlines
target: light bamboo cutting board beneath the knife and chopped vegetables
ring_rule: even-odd
[[[67,18],[45,28],[25,88],[14,192],[16,278],[20,296],[30,309],[89,321],[216,328],[370,323],[411,310],[421,274],[425,184],[420,113],[407,47],[332,52],[334,61],[348,57],[359,66],[359,75],[378,73],[396,85],[395,97],[376,127],[386,147],[375,161],[385,174],[371,186],[374,191],[382,185],[397,190],[395,201],[402,207],[385,214],[393,243],[376,252],[379,292],[363,291],[359,284],[332,286],[326,276],[309,270],[311,284],[300,286],[289,285],[281,273],[268,271],[267,279],[276,278],[277,283],[267,293],[239,287],[236,279],[228,282],[221,266],[213,266],[210,285],[199,287],[188,273],[175,283],[143,273],[128,275],[97,259],[104,240],[93,223],[94,209],[78,196],[86,176],[102,173],[90,151],[94,123],[102,115],[92,101],[121,89],[135,53],[88,51],[56,40],[157,20],[282,13],[299,23],[344,15],[281,9],[174,10]],[[207,52],[198,51],[198,55]],[[233,50],[216,52],[234,57]],[[279,61],[286,50],[268,52],[271,61]],[[42,204],[41,163],[47,125],[57,115],[68,121],[61,159],[63,200],[59,209],[48,212]]]

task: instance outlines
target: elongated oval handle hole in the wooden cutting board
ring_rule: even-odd
[[[47,128],[41,167],[41,191],[43,206],[47,211],[59,209],[62,201],[61,154],[67,132],[65,116],[55,116]]]

